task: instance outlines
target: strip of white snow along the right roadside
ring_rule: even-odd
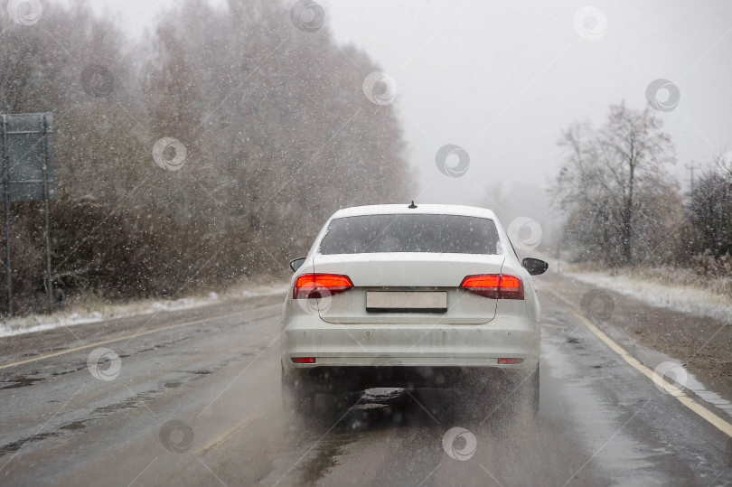
[[[652,306],[732,324],[732,303],[729,297],[707,289],[695,286],[668,286],[634,276],[610,276],[605,272],[566,274],[578,281],[633,297]]]

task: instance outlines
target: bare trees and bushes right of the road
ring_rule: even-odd
[[[732,173],[723,156],[682,194],[661,119],[624,104],[610,107],[604,126],[569,126],[559,145],[566,151],[551,194],[574,261],[732,276]]]

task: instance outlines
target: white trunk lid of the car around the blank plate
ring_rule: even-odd
[[[317,255],[314,272],[353,287],[318,300],[328,323],[487,323],[496,300],[461,289],[465,276],[500,274],[502,255],[427,252]]]

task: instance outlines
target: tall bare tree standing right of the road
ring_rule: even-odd
[[[551,189],[568,216],[568,233],[588,255],[600,251],[611,266],[649,257],[648,245],[668,231],[669,195],[678,187],[665,166],[674,164],[662,121],[643,111],[610,107],[604,126],[576,123],[562,132],[568,151]],[[643,253],[641,253],[643,249]]]

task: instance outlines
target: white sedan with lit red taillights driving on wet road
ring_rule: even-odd
[[[295,271],[284,306],[282,393],[453,387],[511,372],[539,407],[540,304],[492,211],[434,204],[337,211]],[[493,373],[493,375],[492,375]]]

